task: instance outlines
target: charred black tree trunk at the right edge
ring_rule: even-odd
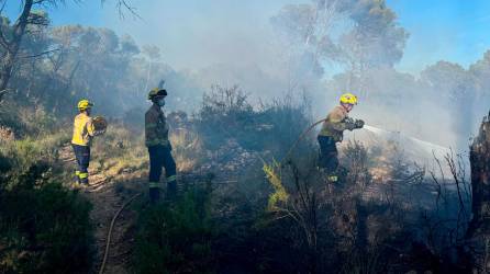
[[[467,238],[474,273],[490,273],[490,113],[470,147],[472,218]],[[476,252],[475,252],[476,251]]]

